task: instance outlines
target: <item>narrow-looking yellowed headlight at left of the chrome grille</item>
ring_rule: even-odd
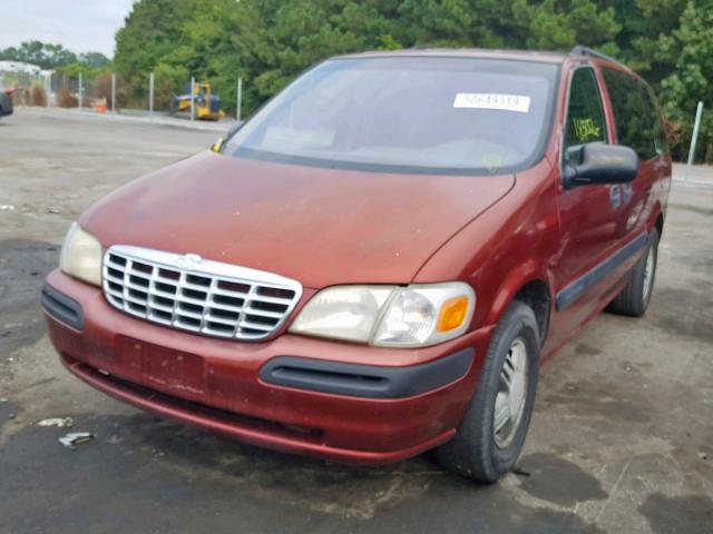
[[[101,286],[101,244],[72,222],[59,256],[62,273],[95,286]]]

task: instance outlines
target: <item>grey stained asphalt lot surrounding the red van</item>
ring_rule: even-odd
[[[713,187],[674,185],[652,309],[597,317],[548,363],[519,473],[494,486],[428,455],[362,471],[243,446],[69,376],[38,305],[68,225],[215,137],[51,111],[0,120],[2,533],[713,532]],[[37,425],[57,416],[96,439],[64,448],[65,429]]]

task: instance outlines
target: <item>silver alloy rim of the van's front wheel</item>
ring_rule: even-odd
[[[506,448],[517,434],[527,399],[527,345],[521,337],[510,343],[500,369],[492,414],[492,434],[498,448]]]

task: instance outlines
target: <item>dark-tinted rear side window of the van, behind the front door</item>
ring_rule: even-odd
[[[602,72],[619,145],[633,148],[644,161],[665,151],[664,128],[648,86],[619,70],[604,68]]]

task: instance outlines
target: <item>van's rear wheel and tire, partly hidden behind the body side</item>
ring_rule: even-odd
[[[658,237],[656,228],[651,230],[646,250],[644,250],[644,254],[634,266],[629,283],[609,304],[609,312],[631,317],[642,317],[646,313],[648,303],[651,303],[651,295],[654,293],[656,261],[658,260]]]

